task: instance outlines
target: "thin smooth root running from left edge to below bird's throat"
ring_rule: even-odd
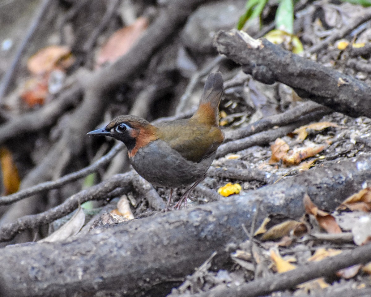
[[[96,172],[99,168],[105,166],[108,164],[116,154],[122,150],[124,147],[123,143],[116,144],[105,156],[101,157],[98,161],[96,161],[94,164],[85,167],[79,171],[73,172],[71,174],[67,174],[63,177],[61,177],[58,180],[51,181],[51,182],[44,182],[40,183],[36,186],[29,187],[24,190],[20,190],[17,193],[14,193],[12,195],[3,196],[0,197],[0,205],[1,204],[10,204],[16,201],[19,201],[23,198],[26,198],[31,195],[35,195],[37,193],[43,192],[45,190],[50,189],[57,189],[62,187],[63,185],[66,185],[67,183],[73,182],[75,180],[81,179],[84,176],[87,176],[90,173]]]

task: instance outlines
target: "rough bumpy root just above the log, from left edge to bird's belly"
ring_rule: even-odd
[[[17,219],[17,221],[4,224],[0,227],[0,241],[10,240],[23,230],[46,225],[56,219],[62,218],[62,216],[72,212],[86,201],[107,199],[107,195],[112,190],[129,185],[133,174],[134,172],[116,174],[111,179],[105,180],[98,185],[72,195],[70,198],[65,200],[65,202],[55,208],[51,208],[36,215],[26,215]]]

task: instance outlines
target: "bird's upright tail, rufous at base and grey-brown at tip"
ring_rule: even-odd
[[[223,78],[220,72],[207,76],[198,110],[193,118],[202,123],[219,125],[219,103],[223,94]]]

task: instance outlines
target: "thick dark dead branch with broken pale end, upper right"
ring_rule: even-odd
[[[243,65],[244,72],[261,82],[279,81],[299,96],[335,111],[352,117],[371,117],[371,88],[358,79],[235,29],[220,31],[214,44],[219,53]]]

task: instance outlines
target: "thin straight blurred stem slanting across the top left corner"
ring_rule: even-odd
[[[52,4],[54,1],[52,0],[44,0],[43,3],[40,6],[39,11],[37,12],[36,16],[32,20],[32,23],[30,25],[30,29],[27,32],[26,37],[23,39],[23,42],[17,49],[17,53],[14,56],[13,62],[10,65],[9,69],[7,72],[4,74],[3,79],[1,79],[0,82],[0,101],[3,100],[3,97],[6,95],[9,84],[12,82],[13,75],[15,70],[17,69],[17,65],[19,63],[20,58],[22,57],[22,54],[24,50],[26,49],[26,46],[30,39],[32,38],[33,34],[35,33],[37,27],[39,26],[39,23],[42,19],[43,16],[45,16],[46,11],[49,9],[50,4]]]

